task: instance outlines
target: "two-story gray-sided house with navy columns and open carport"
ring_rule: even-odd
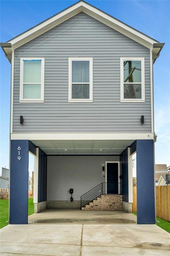
[[[108,209],[107,200],[131,212],[136,152],[137,223],[155,223],[153,63],[163,45],[84,1],[1,43],[11,62],[11,224],[28,222],[29,152],[36,212]]]

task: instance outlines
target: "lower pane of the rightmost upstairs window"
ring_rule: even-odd
[[[141,99],[141,84],[124,84],[124,99]]]

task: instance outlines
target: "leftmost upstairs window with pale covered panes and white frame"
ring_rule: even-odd
[[[44,58],[20,59],[20,102],[44,102]]]

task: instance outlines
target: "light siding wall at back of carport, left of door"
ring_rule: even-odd
[[[119,156],[47,156],[47,200],[70,200],[105,182],[101,174],[106,161],[119,161]]]

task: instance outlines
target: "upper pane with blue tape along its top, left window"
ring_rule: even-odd
[[[24,83],[41,83],[41,60],[24,60]]]

